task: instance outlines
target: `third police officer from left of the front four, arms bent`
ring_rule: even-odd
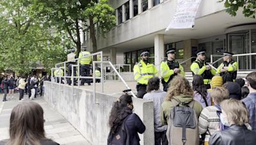
[[[211,88],[210,83],[215,75],[215,70],[205,62],[205,50],[196,51],[196,60],[190,66],[193,76],[195,74],[202,75],[206,88]]]

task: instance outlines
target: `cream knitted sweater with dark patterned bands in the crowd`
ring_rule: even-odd
[[[217,107],[208,106],[203,109],[198,119],[199,134],[205,135],[204,141],[209,141],[214,132],[220,130],[220,118],[217,114]]]

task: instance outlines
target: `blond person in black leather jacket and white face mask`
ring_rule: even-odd
[[[245,125],[249,123],[249,113],[244,103],[236,99],[228,99],[223,100],[220,106],[220,120],[229,128],[211,135],[209,145],[254,145],[256,132],[248,130]]]

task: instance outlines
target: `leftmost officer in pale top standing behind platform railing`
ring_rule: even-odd
[[[75,48],[72,48],[71,53],[68,53],[67,60],[68,60],[68,76],[71,76],[72,74],[72,65],[76,64],[76,53],[74,53],[76,50]],[[76,76],[76,67],[74,67],[74,76]],[[72,81],[71,78],[67,79],[68,85],[71,85]],[[74,78],[74,85],[76,85],[76,78]]]

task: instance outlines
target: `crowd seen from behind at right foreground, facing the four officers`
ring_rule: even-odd
[[[159,78],[148,79],[143,99],[154,102],[155,144],[255,144],[256,72],[246,76],[246,83],[239,78],[223,84],[221,76],[214,76],[209,89],[202,76],[193,78],[191,86],[184,76],[174,76],[167,92],[159,89]],[[122,95],[114,102],[108,144],[140,144],[138,133],[146,128],[132,109],[131,95]],[[128,137],[124,139],[120,130]]]

